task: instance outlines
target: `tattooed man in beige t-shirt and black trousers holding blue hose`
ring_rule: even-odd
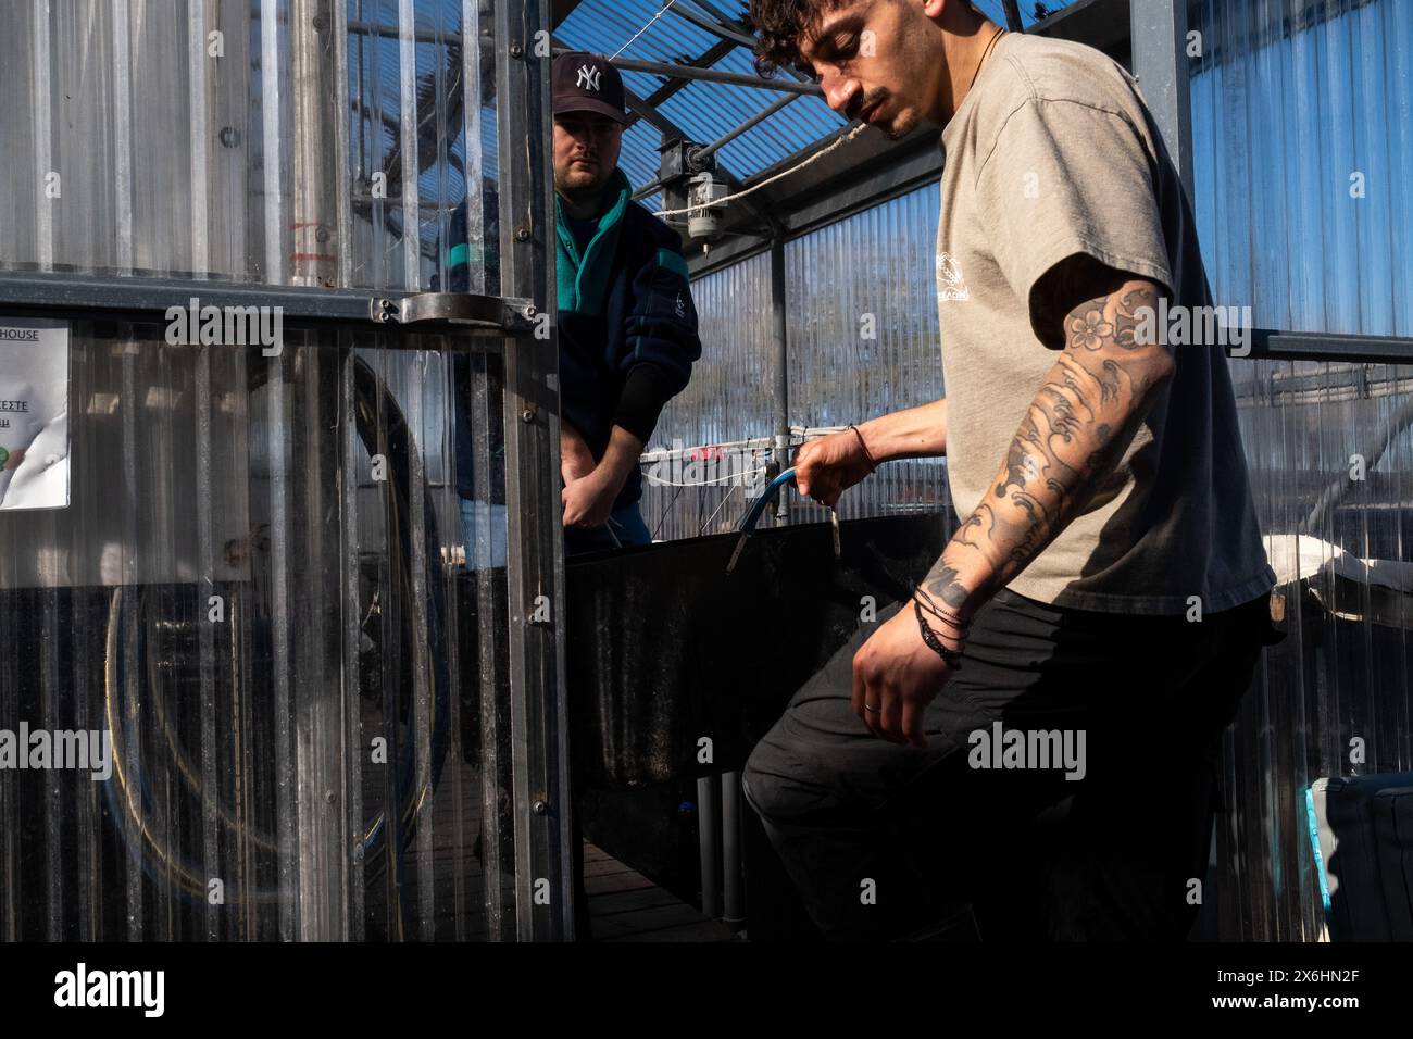
[[[1181,937],[1275,574],[1235,329],[1212,321],[1152,116],[1105,55],[964,0],[753,0],[752,18],[760,64],[812,69],[835,110],[893,137],[945,127],[918,277],[937,284],[947,399],[807,444],[800,489],[834,505],[885,461],[945,455],[962,523],[914,598],[796,694],[747,797],[831,937],[927,924],[877,910],[882,893],[855,905],[859,878],[935,893],[937,859],[1070,794],[1048,933]],[[903,864],[924,845],[930,865]]]

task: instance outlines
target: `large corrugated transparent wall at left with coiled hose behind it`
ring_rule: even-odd
[[[507,578],[540,557],[516,571],[504,544],[507,498],[527,541],[544,533],[531,465],[504,462],[509,370],[543,386],[543,353],[298,318],[280,349],[184,345],[161,315],[192,286],[164,300],[178,286],[154,277],[301,287],[253,300],[290,304],[427,287],[447,256],[468,271],[448,288],[497,293],[483,146],[507,112],[538,133],[543,99],[538,69],[480,68],[492,16],[512,17],[475,0],[0,10],[0,267],[160,301],[66,319],[68,505],[0,507],[0,940],[564,933],[545,828],[567,823],[536,830],[528,797],[561,789],[527,766],[562,756],[552,659],[524,677],[537,657],[509,621]],[[538,182],[538,150],[520,158],[516,182]],[[530,243],[517,284],[533,260]],[[16,310],[0,280],[0,324]],[[520,457],[550,442],[541,425],[516,421]],[[531,909],[541,876],[555,903]]]

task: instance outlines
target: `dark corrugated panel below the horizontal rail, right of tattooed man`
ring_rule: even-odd
[[[1413,588],[1388,577],[1413,558],[1413,368],[1234,365],[1289,633],[1228,735],[1222,936],[1318,940],[1306,787],[1413,766]]]

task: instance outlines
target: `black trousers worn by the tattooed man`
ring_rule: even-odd
[[[1188,622],[1002,591],[927,708],[927,749],[873,736],[851,708],[853,654],[876,628],[796,693],[743,773],[825,937],[903,939],[955,915],[1013,869],[1029,820],[1072,799],[1031,892],[1036,936],[1181,940],[1207,875],[1222,729],[1262,645],[1283,638],[1267,598]],[[1006,768],[979,734],[1015,749],[1012,732],[1030,752]],[[1047,762],[1065,738],[1070,763]]]

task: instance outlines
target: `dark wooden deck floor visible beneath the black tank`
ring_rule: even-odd
[[[735,941],[719,920],[667,892],[606,851],[584,843],[584,886],[593,941]]]

